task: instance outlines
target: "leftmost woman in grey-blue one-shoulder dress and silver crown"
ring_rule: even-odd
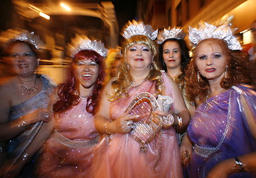
[[[1,151],[7,153],[1,173],[13,177],[27,162],[29,164],[21,175],[32,172],[32,160],[36,159],[34,155],[42,146],[47,131],[50,132],[47,122],[52,113],[47,110],[47,105],[54,85],[45,76],[35,73],[39,47],[42,47],[40,39],[26,31],[13,36],[7,45],[16,75],[0,87]],[[36,144],[31,146],[33,142]]]

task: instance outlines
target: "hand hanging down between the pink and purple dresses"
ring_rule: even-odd
[[[191,142],[188,139],[188,136],[185,135],[183,137],[183,141],[180,144],[180,157],[183,165],[188,165],[188,162],[190,162],[192,151],[193,151],[193,146],[191,145]]]

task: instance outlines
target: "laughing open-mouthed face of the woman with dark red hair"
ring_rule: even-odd
[[[92,59],[80,59],[75,65],[76,76],[83,88],[91,88],[99,76],[99,65]]]

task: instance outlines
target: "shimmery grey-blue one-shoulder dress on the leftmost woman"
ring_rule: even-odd
[[[45,76],[42,75],[40,77],[43,82],[43,87],[40,93],[28,99],[27,101],[22,102],[19,105],[11,107],[9,117],[10,121],[19,119],[20,116],[24,116],[28,113],[31,113],[36,109],[47,108],[50,100],[50,95],[53,93],[55,86]],[[16,136],[14,139],[11,139],[8,142],[7,158],[13,160],[12,164],[14,164],[19,159],[19,157],[24,153],[27,146],[30,145],[30,142],[33,141],[34,137],[39,132],[41,126],[42,122],[36,122],[36,124],[27,127],[27,129],[23,133],[21,133],[19,136]],[[31,162],[33,164],[33,159]]]

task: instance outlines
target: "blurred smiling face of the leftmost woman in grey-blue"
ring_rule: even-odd
[[[19,76],[29,76],[34,73],[38,65],[35,54],[27,44],[16,43],[10,49],[13,70]]]

